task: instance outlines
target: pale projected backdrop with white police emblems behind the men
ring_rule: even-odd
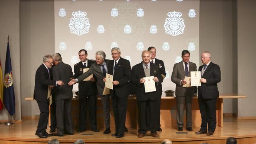
[[[72,68],[81,49],[88,59],[99,50],[112,59],[111,48],[119,47],[134,66],[154,46],[167,73],[163,90],[175,90],[170,78],[183,50],[199,67],[199,0],[55,0],[54,10],[55,53]]]

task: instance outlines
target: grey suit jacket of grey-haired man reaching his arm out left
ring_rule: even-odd
[[[109,65],[109,59],[105,59],[106,65],[108,67]],[[88,76],[90,76],[91,74],[93,74],[93,76],[97,79],[97,92],[99,95],[103,94],[103,90],[105,87],[105,82],[103,82],[103,78],[105,78],[105,76],[103,75],[102,71],[101,71],[101,66],[97,65],[97,63],[93,63],[90,66],[90,69],[88,71],[86,71],[85,73],[83,73],[81,76],[79,76],[78,82],[80,83],[81,81],[83,81],[83,79],[87,78]]]

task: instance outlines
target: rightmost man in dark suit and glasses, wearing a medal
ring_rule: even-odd
[[[211,62],[211,53],[203,52],[199,66],[201,86],[198,86],[198,103],[201,113],[201,128],[196,134],[213,135],[216,128],[216,103],[219,97],[217,83],[220,82],[220,67]],[[208,127],[207,127],[208,126]],[[207,132],[208,130],[208,132]]]

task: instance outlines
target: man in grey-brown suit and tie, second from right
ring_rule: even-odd
[[[178,131],[183,131],[183,110],[186,105],[186,129],[192,131],[192,97],[194,87],[183,87],[190,83],[185,81],[185,76],[190,77],[190,71],[197,71],[197,65],[190,60],[190,52],[183,50],[181,52],[182,61],[174,64],[171,81],[176,84],[175,95],[177,103],[177,126]]]

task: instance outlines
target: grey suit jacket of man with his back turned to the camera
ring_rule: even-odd
[[[57,86],[53,89],[55,100],[71,99],[73,97],[73,85],[69,85],[70,78],[74,78],[72,68],[68,64],[60,61],[52,68],[53,80],[62,80],[63,86]]]

